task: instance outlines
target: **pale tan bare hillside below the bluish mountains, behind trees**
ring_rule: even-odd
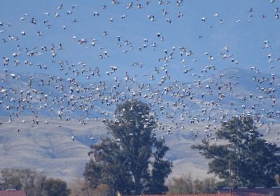
[[[101,138],[109,137],[106,127],[100,120],[88,120],[80,124],[78,120],[57,120],[38,118],[38,125],[32,123],[32,116],[15,118],[10,123],[0,125],[0,169],[6,167],[31,168],[44,171],[48,176],[73,181],[83,177],[85,163],[89,161],[87,153],[90,145]],[[48,124],[44,123],[48,120]],[[172,176],[192,174],[194,178],[207,176],[208,160],[190,148],[205,137],[205,123],[188,124],[183,130],[173,130],[173,134],[157,131],[158,137],[165,137],[168,151],[166,158],[172,160]],[[260,127],[260,132],[269,141],[279,144],[280,124]],[[197,137],[193,131],[197,132]],[[214,132],[209,131],[214,134]],[[72,141],[71,137],[74,137]]]

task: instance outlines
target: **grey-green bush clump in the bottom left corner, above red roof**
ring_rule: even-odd
[[[65,181],[48,178],[43,172],[32,169],[1,169],[0,190],[25,190],[32,196],[67,196]]]

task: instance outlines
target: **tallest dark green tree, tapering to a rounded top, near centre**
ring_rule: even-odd
[[[164,139],[157,139],[155,114],[136,99],[117,107],[115,119],[107,120],[111,138],[91,146],[85,180],[97,187],[104,183],[123,194],[165,193],[165,179],[172,172],[166,160],[169,150]]]

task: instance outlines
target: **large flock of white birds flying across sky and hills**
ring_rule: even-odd
[[[167,25],[172,25],[174,20],[183,20],[187,13],[178,11],[174,18],[169,18],[169,11],[164,6],[169,4],[180,8],[186,3],[183,0],[178,1],[163,1],[156,2],[158,6],[162,6],[162,15]],[[274,3],[274,0],[269,0],[269,3]],[[122,3],[121,1],[112,0],[111,6],[125,6],[125,9],[142,10],[151,4],[152,1]],[[102,15],[102,11],[111,8],[110,5],[104,5],[99,10],[94,10],[92,18],[98,18]],[[68,9],[68,10],[66,10]],[[205,79],[205,75],[216,73],[217,66],[214,65],[215,59],[221,59],[222,62],[229,62],[232,66],[238,66],[239,60],[232,55],[229,46],[222,48],[218,56],[215,57],[211,52],[204,52],[203,56],[211,64],[204,66],[203,69],[197,71],[190,62],[198,61],[197,52],[190,46],[170,46],[167,49],[158,51],[160,45],[165,41],[165,34],[155,32],[153,38],[144,38],[141,45],[134,45],[134,41],[126,39],[120,32],[115,36],[116,47],[114,50],[121,50],[121,54],[130,55],[130,51],[134,52],[156,52],[159,55],[155,60],[160,66],[154,66],[149,69],[143,59],[143,62],[134,61],[132,59],[132,67],[130,70],[145,69],[143,76],[139,76],[137,71],[124,71],[120,73],[120,67],[115,64],[110,65],[107,70],[99,66],[92,67],[87,62],[81,61],[72,63],[68,60],[59,59],[59,53],[66,50],[66,43],[57,43],[50,45],[41,45],[38,47],[30,47],[21,45],[20,40],[27,38],[28,35],[36,36],[36,40],[45,39],[48,36],[47,31],[52,29],[52,20],[66,16],[71,16],[71,22],[78,23],[80,15],[75,15],[78,5],[71,7],[60,4],[55,9],[55,13],[42,13],[42,18],[35,18],[32,13],[24,13],[20,18],[20,22],[26,22],[25,30],[7,34],[6,30],[13,27],[13,22],[0,21],[0,38],[2,45],[14,45],[14,50],[10,55],[3,57],[3,63],[0,78],[0,108],[3,113],[8,115],[8,119],[2,118],[0,126],[3,123],[10,123],[14,118],[29,115],[34,116],[31,120],[32,125],[45,123],[48,125],[51,120],[41,122],[41,116],[55,116],[61,120],[69,121],[71,118],[78,116],[80,124],[87,123],[88,120],[106,120],[108,118],[116,118],[113,114],[114,106],[125,102],[127,99],[137,98],[143,100],[151,106],[151,116],[158,116],[158,127],[155,130],[164,131],[167,134],[172,134],[174,130],[186,130],[186,133],[192,134],[195,139],[199,134],[204,134],[209,139],[216,139],[214,132],[221,121],[228,120],[232,116],[250,115],[255,118],[259,127],[267,123],[267,133],[271,130],[271,125],[279,122],[279,75],[274,73],[275,65],[270,66],[271,74],[261,75],[260,69],[255,66],[251,67],[248,73],[253,74],[253,78],[249,80],[255,85],[255,90],[249,94],[246,92],[238,92],[241,85],[241,79],[246,76],[239,75],[239,69],[230,69],[228,72],[220,73],[215,78]],[[66,11],[64,11],[66,10]],[[252,22],[253,8],[248,9],[248,20]],[[273,17],[269,18],[266,15],[260,15],[260,18],[269,18],[269,20],[279,20],[279,8],[272,10]],[[84,13],[86,14],[86,13]],[[148,22],[158,22],[162,20],[162,15],[148,13],[146,19]],[[120,15],[120,18],[109,18],[108,22],[118,22],[125,20],[129,15]],[[214,13],[214,18],[219,18],[219,23],[223,25],[225,20],[221,18],[221,14]],[[2,18],[1,20],[3,20]],[[202,17],[201,22],[207,22],[208,18]],[[237,20],[236,22],[241,22]],[[40,24],[45,27],[44,31],[36,29]],[[69,25],[68,25],[69,26]],[[62,24],[64,31],[69,29],[67,25]],[[81,28],[81,27],[80,27]],[[209,26],[213,28],[213,26]],[[36,29],[36,30],[34,30]],[[97,48],[97,61],[113,58],[111,51],[104,49],[102,39],[113,36],[109,34],[111,29],[106,29],[100,38],[78,38],[72,36],[69,41],[75,41],[77,47],[85,45],[86,49]],[[198,36],[197,38],[202,38]],[[151,43],[152,40],[152,43]],[[263,41],[263,50],[269,50],[267,55],[268,62],[279,64],[280,56],[272,54],[272,45],[268,40]],[[113,51],[112,51],[113,53]],[[38,62],[41,56],[43,62]],[[172,76],[172,71],[169,70],[169,64],[172,64],[175,59],[179,59],[180,70],[183,76],[195,78],[193,82],[186,82],[183,79]],[[191,59],[191,60],[190,60]],[[113,59],[112,59],[113,60]],[[49,62],[54,64],[53,67],[48,66]],[[212,63],[213,62],[213,63]],[[25,69],[33,71],[40,70],[38,73],[32,73],[26,76],[24,73],[17,73],[15,68],[25,66]],[[128,70],[128,69],[127,69]],[[196,71],[196,73],[195,73]],[[235,74],[237,71],[237,74]],[[62,76],[57,76],[64,72]],[[246,72],[247,73],[247,72]],[[230,75],[228,75],[230,74]],[[120,78],[123,75],[123,78]],[[69,76],[69,78],[67,78]],[[265,76],[265,77],[263,77]],[[106,78],[109,78],[106,80]],[[92,80],[92,81],[91,81]],[[91,81],[92,83],[88,83]],[[244,84],[243,84],[244,85]],[[269,110],[267,110],[269,109]],[[4,112],[5,111],[5,112]],[[121,114],[117,114],[121,115]],[[146,119],[144,116],[143,120]],[[166,120],[162,120],[166,119]],[[165,121],[167,123],[160,123]],[[22,120],[22,123],[27,123]],[[189,130],[188,124],[202,123],[204,130]],[[148,125],[148,124],[147,124]],[[18,130],[20,132],[20,130]],[[278,131],[280,134],[280,131]],[[94,136],[89,136],[94,139]],[[71,139],[74,141],[75,137]],[[279,137],[276,137],[279,139]]]

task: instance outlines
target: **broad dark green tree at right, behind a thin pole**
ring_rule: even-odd
[[[216,137],[224,142],[210,145],[204,139],[202,144],[192,146],[210,160],[209,173],[228,181],[231,163],[235,186],[276,185],[275,176],[280,174],[280,148],[262,139],[253,118],[234,117],[222,123]]]

